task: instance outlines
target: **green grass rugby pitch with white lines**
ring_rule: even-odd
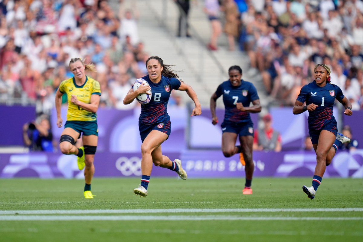
[[[0,180],[0,241],[363,241],[363,180],[311,178]]]

